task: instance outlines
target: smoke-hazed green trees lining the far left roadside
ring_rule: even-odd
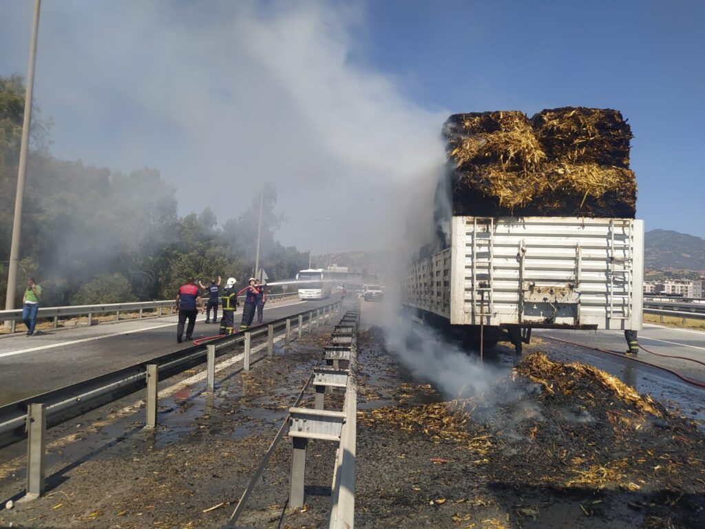
[[[36,107],[35,107],[36,108]],[[24,109],[22,79],[0,77],[0,303],[6,293],[17,157]],[[176,188],[159,171],[121,174],[51,157],[51,121],[32,119],[20,255],[20,284],[35,276],[42,304],[174,298],[189,276],[222,276],[244,286],[254,274],[259,190],[222,228],[211,209],[179,217]],[[271,280],[293,277],[307,254],[276,242],[284,220],[276,190],[264,188],[260,262]]]

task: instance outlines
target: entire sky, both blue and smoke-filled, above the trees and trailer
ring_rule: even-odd
[[[25,71],[31,4],[0,0],[0,75]],[[705,237],[704,20],[700,1],[45,0],[35,98],[56,156],[159,169],[181,212],[219,190],[221,221],[273,181],[284,242],[307,245],[316,208],[347,248],[429,193],[448,114],[611,107],[637,217]]]

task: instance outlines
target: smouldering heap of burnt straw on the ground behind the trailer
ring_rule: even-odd
[[[359,462],[360,527],[705,526],[704,436],[590,365],[532,353],[485,394],[362,411],[358,435],[397,451]]]

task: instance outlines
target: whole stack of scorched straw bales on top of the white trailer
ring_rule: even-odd
[[[454,114],[443,133],[453,214],[635,216],[632,133],[618,111]]]

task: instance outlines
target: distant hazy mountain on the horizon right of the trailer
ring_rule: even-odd
[[[647,231],[644,239],[646,268],[705,271],[705,239],[661,229]]]

